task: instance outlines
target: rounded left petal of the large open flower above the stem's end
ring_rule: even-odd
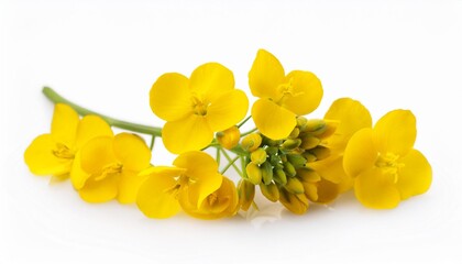
[[[154,82],[150,91],[153,112],[166,121],[176,121],[193,112],[189,80],[176,73],[164,74]]]

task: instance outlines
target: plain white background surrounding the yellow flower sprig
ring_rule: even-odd
[[[69,183],[28,172],[48,132],[48,85],[88,108],[162,125],[148,90],[167,72],[219,62],[249,92],[257,48],[316,73],[332,100],[361,100],[376,121],[417,117],[430,190],[397,209],[352,194],[249,221],[145,218],[89,205]],[[0,1],[0,263],[462,263],[462,1]],[[249,92],[250,94],[250,92]],[[170,164],[158,144],[155,164]],[[271,208],[274,210],[274,208]]]

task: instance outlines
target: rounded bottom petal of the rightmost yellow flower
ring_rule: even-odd
[[[392,209],[400,201],[393,176],[374,167],[360,174],[354,183],[354,194],[363,206],[374,209]]]

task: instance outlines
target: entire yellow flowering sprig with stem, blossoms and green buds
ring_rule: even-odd
[[[232,217],[255,205],[256,188],[301,215],[310,204],[350,190],[365,207],[388,209],[430,187],[431,166],[414,148],[416,118],[409,110],[393,110],[373,125],[361,102],[340,98],[323,118],[307,118],[322,99],[321,81],[306,70],[286,74],[264,50],[250,69],[249,87],[256,100],[246,117],[248,96],[221,64],[200,65],[189,78],[164,74],[150,91],[162,128],[89,111],[44,88],[56,103],[51,132],[32,141],[24,161],[35,175],[69,178],[87,202],[136,204],[156,219],[179,211]],[[241,131],[250,120],[254,129]],[[140,135],[114,134],[111,127],[151,134],[151,148]],[[151,163],[157,136],[177,155],[170,166]],[[230,168],[240,176],[237,183],[226,176]]]

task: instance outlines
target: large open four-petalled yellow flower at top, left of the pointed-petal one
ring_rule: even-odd
[[[197,67],[191,77],[162,75],[150,94],[151,109],[167,121],[162,130],[165,147],[176,154],[198,151],[245,117],[249,100],[234,89],[231,70],[218,63]]]

